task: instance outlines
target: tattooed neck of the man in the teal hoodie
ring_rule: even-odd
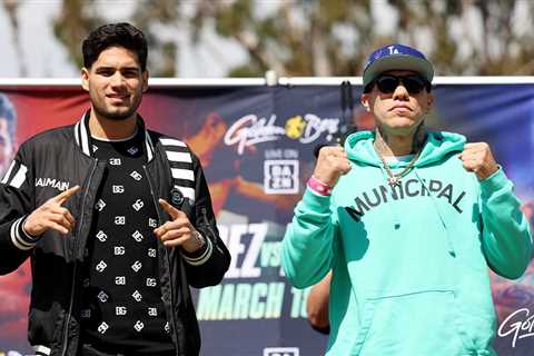
[[[406,156],[417,154],[425,142],[425,128],[421,125],[417,130],[408,135],[392,135],[376,128],[375,150],[382,156]]]

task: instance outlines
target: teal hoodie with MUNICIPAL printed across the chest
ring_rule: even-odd
[[[495,355],[487,267],[517,278],[531,257],[512,182],[501,168],[478,181],[457,157],[465,138],[429,132],[390,187],[373,140],[348,137],[350,171],[329,197],[305,191],[283,241],[295,287],[333,269],[326,354]]]

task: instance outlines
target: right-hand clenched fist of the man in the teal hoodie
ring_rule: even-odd
[[[465,170],[474,172],[478,180],[484,180],[498,170],[486,142],[465,144],[458,158],[462,159]]]

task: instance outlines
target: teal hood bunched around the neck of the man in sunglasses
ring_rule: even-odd
[[[378,155],[375,151],[373,142],[375,132],[359,131],[350,135],[345,141],[345,151],[348,159],[365,165],[379,167],[382,165]],[[421,152],[415,167],[424,167],[441,161],[446,156],[461,152],[465,145],[465,137],[453,132],[428,131],[423,151]],[[399,161],[399,167],[406,162]]]

